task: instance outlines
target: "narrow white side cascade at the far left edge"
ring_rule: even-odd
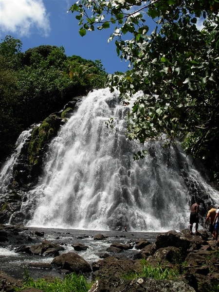
[[[16,142],[15,152],[6,160],[0,169],[0,192],[6,193],[7,186],[13,179],[13,165],[16,163],[25,141],[31,136],[33,128],[23,131]]]

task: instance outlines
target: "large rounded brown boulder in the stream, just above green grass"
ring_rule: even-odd
[[[52,263],[60,269],[65,269],[75,273],[91,272],[90,264],[81,256],[75,253],[66,253],[61,256],[56,256]]]

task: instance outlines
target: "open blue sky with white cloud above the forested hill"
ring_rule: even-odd
[[[63,46],[66,55],[101,60],[108,73],[126,71],[128,63],[116,54],[112,29],[81,37],[75,14],[67,13],[76,0],[0,0],[0,39],[6,35],[22,42],[22,52],[39,45]]]

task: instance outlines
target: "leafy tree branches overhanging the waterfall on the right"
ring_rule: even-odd
[[[79,0],[70,11],[81,36],[114,30],[109,41],[131,70],[110,75],[111,91],[126,105],[142,90],[126,117],[128,139],[180,141],[219,181],[219,0]]]

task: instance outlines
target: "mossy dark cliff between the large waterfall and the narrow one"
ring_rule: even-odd
[[[0,194],[0,224],[8,223],[15,212],[13,224],[20,224],[23,220],[30,219],[28,208],[25,211],[21,210],[22,202],[27,200],[25,192],[38,182],[49,142],[77,109],[80,100],[80,96],[74,97],[62,110],[52,113],[40,124],[32,126],[32,134],[22,146],[18,159],[13,165],[13,176],[6,187],[7,191]]]

